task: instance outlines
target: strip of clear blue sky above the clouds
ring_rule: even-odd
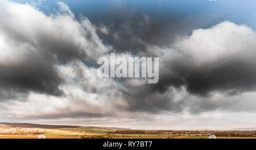
[[[57,9],[55,0],[16,2],[37,5],[48,14]],[[174,17],[191,19],[195,28],[207,28],[224,20],[256,28],[256,2],[253,0],[64,0],[63,2],[67,3],[76,16],[82,14],[93,23],[109,22],[117,17],[116,15],[129,12],[134,16],[146,14],[163,23]]]

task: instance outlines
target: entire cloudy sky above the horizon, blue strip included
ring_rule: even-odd
[[[253,0],[0,0],[0,122],[256,127]],[[159,82],[98,58],[159,57]]]

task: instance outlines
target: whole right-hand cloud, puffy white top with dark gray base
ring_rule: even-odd
[[[200,95],[210,91],[254,90],[255,39],[256,34],[249,27],[230,22],[193,31],[175,45],[178,54],[169,55],[170,66],[163,66],[169,72],[162,73],[155,90],[163,91],[168,85],[186,85],[190,93]]]

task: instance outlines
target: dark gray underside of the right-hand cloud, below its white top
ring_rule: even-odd
[[[206,66],[195,66],[184,61],[171,61],[172,65],[168,69],[172,73],[160,75],[158,84],[152,85],[151,90],[164,92],[169,86],[185,85],[192,94],[207,95],[210,91],[242,92],[254,90],[256,87],[254,61],[223,60]]]

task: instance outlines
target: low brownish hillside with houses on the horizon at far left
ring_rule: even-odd
[[[78,128],[81,126],[64,126],[32,123],[0,123],[0,128]]]

